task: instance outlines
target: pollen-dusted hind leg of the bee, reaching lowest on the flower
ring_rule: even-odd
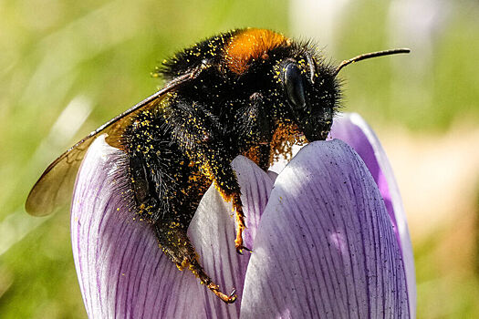
[[[213,283],[210,276],[204,272],[201,263],[198,261],[198,255],[194,251],[193,244],[186,234],[185,228],[177,221],[157,221],[153,224],[154,231],[161,246],[161,250],[176,263],[181,271],[189,269],[197,278],[200,279],[209,290],[226,304],[233,304],[236,300],[236,290],[225,294],[220,287]]]

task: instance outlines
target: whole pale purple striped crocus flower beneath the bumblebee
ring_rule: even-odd
[[[71,211],[89,317],[413,318],[411,242],[383,150],[358,115],[338,118],[331,136],[301,149],[277,177],[233,161],[252,253],[235,252],[231,203],[213,187],[204,194],[188,234],[213,281],[236,288],[234,304],[162,254],[122,194],[125,155],[97,139]]]

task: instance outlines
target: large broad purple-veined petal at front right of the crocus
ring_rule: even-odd
[[[410,316],[384,201],[342,141],[309,144],[279,174],[254,251],[242,318]]]

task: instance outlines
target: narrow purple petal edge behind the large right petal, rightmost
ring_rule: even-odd
[[[416,313],[416,278],[414,273],[414,256],[412,254],[411,236],[408,230],[406,213],[402,206],[401,193],[386,152],[380,140],[366,121],[357,113],[345,113],[335,118],[330,133],[332,138],[344,140],[355,149],[378,184],[390,219],[394,223],[401,244],[402,257],[405,263],[408,293],[410,295],[410,311],[412,317]]]

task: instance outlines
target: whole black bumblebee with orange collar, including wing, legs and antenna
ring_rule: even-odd
[[[107,134],[128,165],[130,197],[141,220],[151,224],[162,252],[189,268],[225,303],[204,272],[187,236],[203,193],[213,183],[232,201],[236,251],[243,244],[241,190],[230,163],[245,155],[267,170],[294,140],[326,139],[341,97],[339,70],[361,59],[408,49],[381,51],[325,63],[315,46],[256,28],[210,37],[163,61],[155,75],[166,85],[91,132],[55,160],[30,191],[26,211],[53,212],[69,198],[79,164],[92,141]]]

